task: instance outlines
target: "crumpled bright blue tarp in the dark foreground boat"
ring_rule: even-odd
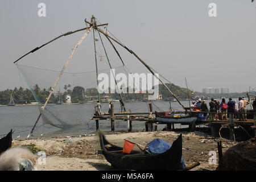
[[[154,139],[146,146],[146,151],[150,154],[162,154],[163,152],[169,150],[171,148],[171,144],[164,142],[164,140],[161,139]],[[183,158],[181,157],[179,169],[184,169],[185,163]]]

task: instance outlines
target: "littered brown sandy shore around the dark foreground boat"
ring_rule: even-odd
[[[159,138],[168,143],[172,143],[181,132],[155,131],[137,133],[108,133],[106,138],[118,145],[123,146],[123,139],[146,146],[152,139]],[[183,158],[187,166],[200,162],[200,166],[192,170],[215,170],[217,164],[209,164],[209,151],[216,151],[217,163],[217,140],[222,141],[223,151],[234,146],[235,142],[226,139],[210,137],[205,133],[195,132],[183,134]],[[104,171],[119,170],[111,167],[103,155],[98,155],[100,144],[97,135],[80,135],[65,137],[41,137],[30,139],[14,139],[13,147],[24,147],[34,144],[46,152],[46,164],[39,164],[36,160],[36,167],[42,171],[62,171],[62,170],[83,170],[83,171]],[[138,150],[137,146],[134,150]],[[35,158],[39,156],[35,155]]]

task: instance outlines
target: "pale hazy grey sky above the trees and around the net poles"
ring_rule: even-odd
[[[46,17],[38,16],[41,2],[46,4]],[[210,18],[208,5],[212,2],[217,5],[217,17]],[[174,84],[185,86],[186,77],[189,88],[200,92],[205,87],[228,87],[230,92],[256,87],[256,2],[251,0],[0,3],[0,90],[22,86],[13,64],[16,59],[61,32],[85,27],[84,19],[91,15],[109,23],[115,37]],[[57,40],[19,63],[60,70],[82,34]],[[84,51],[77,51],[75,59],[89,54],[86,44],[81,49]],[[92,62],[74,63],[71,68],[90,69],[93,54],[86,58]],[[123,58],[128,59],[126,55]],[[129,64],[129,60],[125,64],[134,73],[143,67]]]

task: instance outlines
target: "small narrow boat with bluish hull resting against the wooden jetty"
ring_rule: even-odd
[[[193,123],[197,120],[197,117],[195,115],[180,115],[180,116],[174,116],[174,115],[168,115],[163,116],[160,115],[158,112],[155,111],[155,117],[156,121],[161,123],[184,123],[189,124]]]

